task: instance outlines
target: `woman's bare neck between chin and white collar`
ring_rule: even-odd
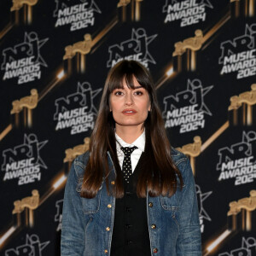
[[[133,143],[143,134],[144,128],[137,126],[121,126],[116,125],[115,132],[116,134],[125,142]]]

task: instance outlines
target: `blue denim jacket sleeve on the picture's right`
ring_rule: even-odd
[[[201,256],[201,229],[195,192],[195,181],[189,160],[183,163],[183,183],[180,201],[180,225],[177,237],[177,255]]]

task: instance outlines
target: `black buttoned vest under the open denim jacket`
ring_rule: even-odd
[[[142,154],[137,166],[124,183],[125,195],[115,200],[111,256],[151,256],[148,234],[147,200],[136,194],[137,178],[143,166]]]

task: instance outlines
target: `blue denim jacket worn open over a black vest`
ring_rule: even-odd
[[[110,255],[115,198],[108,195],[106,183],[95,198],[79,195],[89,153],[73,162],[67,178],[62,212],[61,256]],[[172,197],[147,196],[148,230],[152,256],[201,255],[201,230],[195,182],[188,158],[172,149],[172,159],[183,176],[183,189]],[[108,181],[115,179],[113,163]],[[152,224],[154,229],[151,228]],[[122,255],[120,255],[122,256]],[[139,255],[138,255],[139,256]]]

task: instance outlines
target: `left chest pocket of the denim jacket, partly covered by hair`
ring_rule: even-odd
[[[76,189],[78,193],[81,192],[82,184],[83,184],[83,177],[80,177],[77,185],[77,189]],[[89,198],[81,197],[84,214],[92,214],[92,213],[98,212],[100,209],[101,197],[102,197],[102,186],[94,198],[89,199]]]

